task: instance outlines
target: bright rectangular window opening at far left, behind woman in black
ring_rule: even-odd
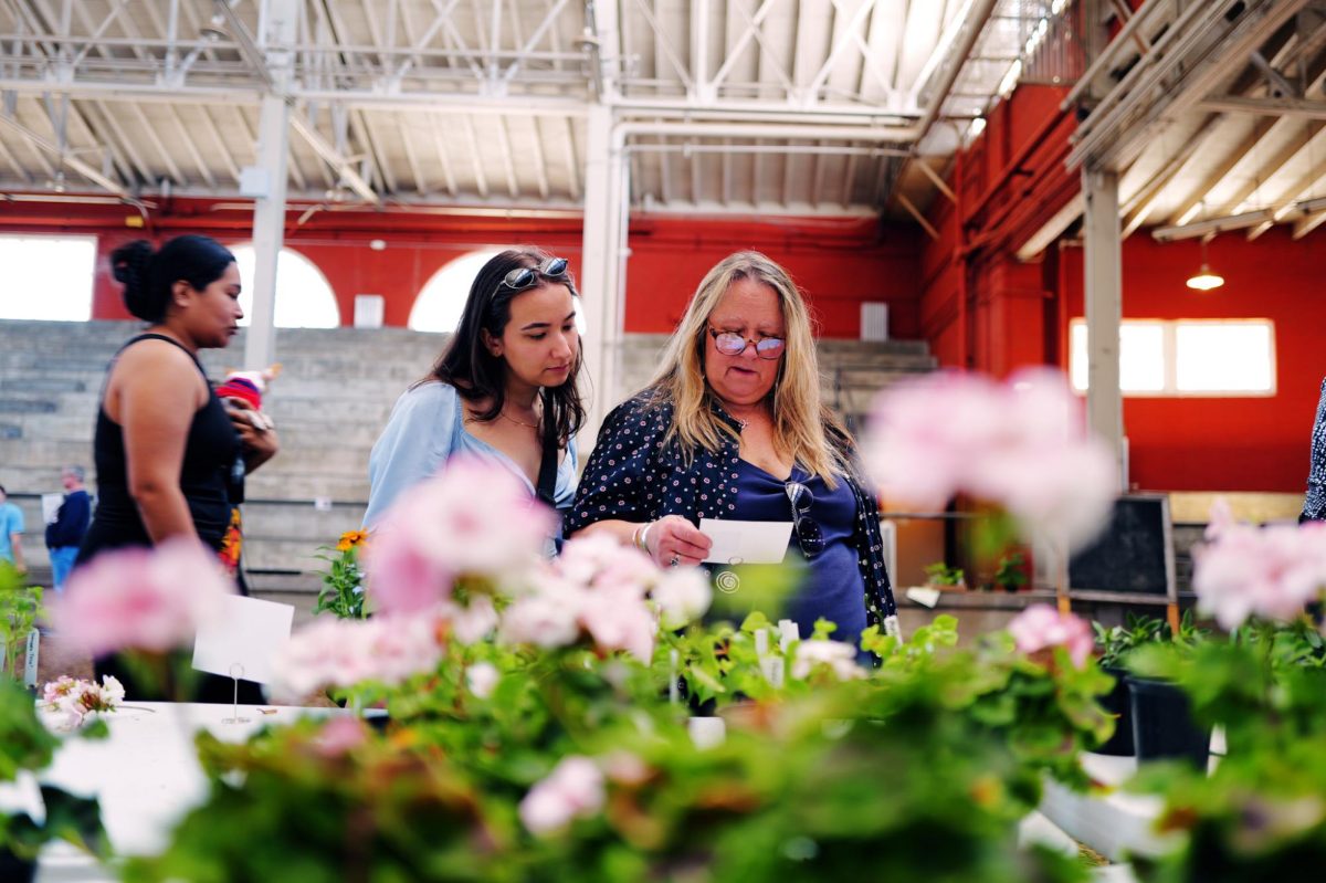
[[[0,236],[0,318],[86,322],[97,270],[95,236]]]

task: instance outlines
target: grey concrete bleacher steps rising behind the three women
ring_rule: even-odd
[[[32,525],[40,524],[36,495],[60,488],[61,465],[91,467],[106,365],[141,330],[133,321],[0,321],[0,481],[23,497]],[[200,354],[212,379],[243,361],[244,337]],[[265,408],[281,434],[281,453],[249,476],[244,506],[247,563],[259,597],[312,609],[324,566],[314,557],[318,546],[361,524],[369,451],[395,400],[427,374],[446,342],[447,335],[407,329],[277,330],[282,373]],[[643,386],[666,342],[663,334],[627,335],[623,390]],[[857,426],[880,387],[935,367],[919,341],[821,341],[818,354],[823,400]],[[317,500],[333,508],[317,509]],[[28,544],[34,563],[45,559],[44,549],[32,548],[40,545]]]

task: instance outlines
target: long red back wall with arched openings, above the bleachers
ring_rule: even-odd
[[[9,211],[12,208],[13,211]],[[328,277],[342,322],[354,316],[355,294],[382,294],[386,324],[403,326],[415,297],[447,263],[479,248],[536,243],[579,269],[581,220],[504,219],[427,213],[320,211],[296,224],[288,216],[286,247]],[[223,243],[251,237],[252,209],[208,200],[172,200],[142,216],[121,206],[20,203],[0,216],[0,232],[77,232],[98,237],[94,318],[129,318],[110,273],[110,252],[133,239],[164,240],[200,232]],[[373,251],[369,241],[387,247]],[[919,232],[875,219],[697,219],[638,216],[631,220],[626,330],[671,331],[704,273],[733,251],[754,248],[784,264],[801,284],[823,337],[854,338],[861,304],[887,301],[891,331],[912,338],[916,313]]]

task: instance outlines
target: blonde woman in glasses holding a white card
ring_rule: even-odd
[[[896,631],[879,512],[819,399],[814,334],[786,270],[758,252],[711,269],[648,386],[599,430],[566,532],[609,533],[662,566],[697,565],[700,518],[792,521],[806,578],[789,609],[855,643]],[[774,611],[766,611],[774,613]]]

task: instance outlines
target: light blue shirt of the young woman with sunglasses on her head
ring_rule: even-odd
[[[431,381],[407,390],[391,408],[387,428],[369,455],[369,510],[365,526],[373,524],[391,506],[406,488],[434,475],[457,453],[487,457],[511,469],[534,496],[529,476],[505,453],[465,431],[465,410],[456,387]],[[575,439],[566,445],[566,456],[557,464],[553,501],[566,508],[575,499]]]

